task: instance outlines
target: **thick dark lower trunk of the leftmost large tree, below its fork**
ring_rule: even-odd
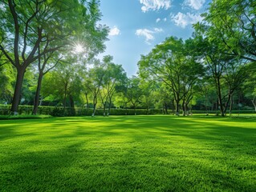
[[[16,84],[14,90],[14,97],[12,100],[12,105],[10,109],[10,113],[17,115],[18,114],[18,105],[21,99],[22,94],[22,82],[25,74],[25,69],[17,69],[17,76],[16,76]]]

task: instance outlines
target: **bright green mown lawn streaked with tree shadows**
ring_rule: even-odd
[[[256,191],[256,118],[2,120],[0,191]]]

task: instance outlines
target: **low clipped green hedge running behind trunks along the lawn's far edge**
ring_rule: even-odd
[[[33,106],[19,106],[18,114],[31,114]],[[107,113],[107,111],[106,111]],[[111,109],[110,114],[112,115],[134,115],[134,114],[163,114],[163,110],[145,110],[145,109]],[[168,110],[169,114],[173,114],[173,110]],[[209,111],[209,114],[217,114],[218,111]],[[229,112],[228,112],[229,113]],[[254,114],[255,110],[233,110],[233,114]],[[0,105],[0,115],[10,114],[10,105]],[[52,115],[52,116],[75,116],[75,115],[85,115],[89,116],[92,114],[92,109],[82,109],[82,108],[69,108],[65,110],[63,107],[55,106],[39,106],[38,114]],[[103,109],[97,109],[95,115],[103,115]],[[181,111],[182,114],[182,111]],[[193,110],[193,114],[207,114],[205,110]]]

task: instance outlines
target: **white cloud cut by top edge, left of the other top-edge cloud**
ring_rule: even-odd
[[[140,0],[143,4],[141,7],[142,12],[147,12],[148,10],[168,10],[171,7],[171,0]]]

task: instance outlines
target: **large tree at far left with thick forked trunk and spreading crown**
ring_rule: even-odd
[[[88,39],[95,39],[94,34],[98,36],[100,31],[107,35],[104,27],[95,26],[100,17],[96,1],[8,0],[1,7],[0,50],[17,70],[11,107],[14,114],[18,111],[24,74],[31,63],[65,47],[70,39],[74,40],[74,34],[86,29],[91,33],[79,35]]]

